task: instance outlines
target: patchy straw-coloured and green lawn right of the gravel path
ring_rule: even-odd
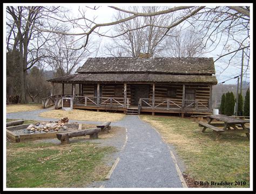
[[[201,133],[201,127],[191,119],[179,117],[140,116],[156,128],[164,141],[171,143],[184,161],[184,174],[195,181],[235,182],[246,185],[213,187],[250,187],[250,141],[246,134],[223,135],[215,141],[211,129]]]

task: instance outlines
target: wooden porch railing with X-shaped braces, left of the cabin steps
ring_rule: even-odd
[[[98,101],[97,101],[98,100]],[[93,106],[93,107],[113,107],[127,109],[130,105],[129,98],[119,97],[90,97],[90,96],[75,96],[74,105]]]

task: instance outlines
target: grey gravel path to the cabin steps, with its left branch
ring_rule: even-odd
[[[51,109],[6,114],[8,119],[49,120],[38,114]],[[58,119],[50,119],[58,120]],[[102,122],[70,122],[98,124]],[[149,124],[138,116],[126,116],[111,123],[127,129],[127,142],[119,152],[119,162],[110,180],[97,183],[105,188],[182,188],[175,164],[170,154],[170,147],[161,140],[161,136]],[[123,142],[123,141],[120,141]],[[118,146],[120,148],[122,144]],[[96,186],[96,184],[95,184]],[[94,186],[93,186],[94,187]]]

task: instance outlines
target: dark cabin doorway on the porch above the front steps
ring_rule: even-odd
[[[138,105],[140,98],[149,98],[150,95],[150,85],[133,85],[133,99],[132,105]]]

